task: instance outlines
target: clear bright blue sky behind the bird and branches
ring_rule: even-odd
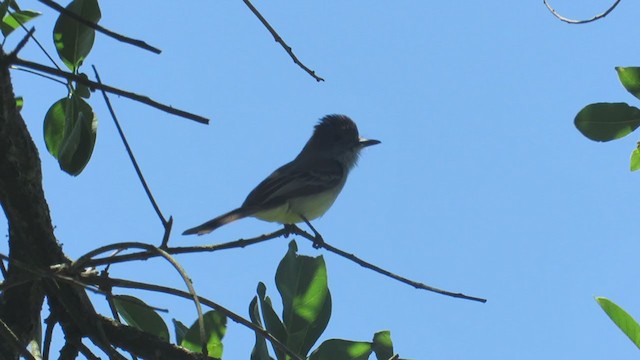
[[[27,5],[45,12],[34,21],[36,36],[53,52],[52,12]],[[636,2],[623,1],[589,25],[561,23],[542,1],[256,2],[324,83],[296,67],[241,1],[101,5],[104,26],[163,53],[97,36],[85,71],[95,64],[106,83],[211,118],[203,126],[112,96],[162,210],[175,218],[171,244],[277,229],[246,219],[206,237],[180,235],[241,204],[298,153],[318,118],[343,113],[382,144],[365,150],[315,227],[327,242],[379,266],[488,302],[415,290],[299,239],[301,253],[321,254],[328,266],[333,315],[322,339],[369,340],[388,329],[396,351],[413,359],[637,358],[593,297],[607,296],[640,318],[632,226],[640,174],[628,170],[638,137],[595,143],[573,126],[592,102],[637,105],[614,71],[640,65]],[[588,18],[609,3],[553,5]],[[21,55],[46,62],[33,43]],[[76,258],[121,241],[159,244],[160,222],[98,94],[91,99],[100,120],[94,156],[73,178],[42,138],[43,116],[64,87],[13,75],[66,253]],[[0,229],[6,234],[4,218]],[[248,316],[259,281],[279,303],[273,277],[288,241],[178,259],[198,292]],[[181,286],[161,261],[111,272]],[[168,321],[195,318],[187,301],[133,294],[168,308]],[[225,358],[248,358],[253,338],[231,324]]]

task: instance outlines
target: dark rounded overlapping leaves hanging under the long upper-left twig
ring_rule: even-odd
[[[44,139],[60,168],[78,175],[91,159],[98,121],[91,106],[79,96],[60,99],[47,111]]]

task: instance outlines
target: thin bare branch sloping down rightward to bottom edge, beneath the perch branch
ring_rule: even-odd
[[[161,286],[161,285],[155,285],[155,284],[147,284],[147,283],[142,283],[142,282],[137,282],[137,281],[131,281],[131,280],[125,280],[125,279],[117,279],[117,278],[100,278],[100,277],[96,277],[96,276],[92,276],[87,278],[87,282],[89,283],[93,283],[93,284],[102,284],[103,282],[106,282],[108,284],[108,286],[112,286],[112,287],[122,287],[122,288],[129,288],[129,289],[141,289],[141,290],[149,290],[149,291],[156,291],[156,292],[161,292],[161,293],[165,293],[165,294],[170,294],[170,295],[175,295],[175,296],[179,296],[185,299],[191,299],[191,295],[185,291],[182,290],[178,290],[178,289],[174,289],[174,288],[170,288],[170,287],[166,287],[166,286]],[[290,350],[289,348],[287,348],[287,346],[285,344],[283,344],[282,342],[280,342],[278,339],[276,339],[273,335],[271,335],[267,330],[263,329],[262,327],[252,323],[251,321],[243,318],[242,316],[236,314],[235,312],[225,308],[224,306],[215,303],[207,298],[204,298],[202,296],[198,296],[198,299],[200,300],[200,302],[203,305],[209,306],[210,308],[217,310],[221,313],[223,313],[225,316],[227,316],[228,318],[230,318],[231,320],[233,320],[234,322],[244,325],[245,327],[251,329],[252,331],[254,331],[256,334],[258,334],[259,336],[264,337],[265,339],[267,339],[269,342],[271,342],[275,347],[277,347],[278,349],[282,350],[283,352],[285,352],[287,355],[291,356],[294,359],[302,359],[299,355],[297,355],[296,353],[294,353],[292,350]]]

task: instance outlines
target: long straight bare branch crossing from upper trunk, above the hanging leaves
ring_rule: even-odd
[[[88,86],[88,87],[90,87],[92,89],[104,90],[104,91],[106,91],[108,93],[120,95],[120,96],[129,98],[131,100],[135,100],[135,101],[141,102],[143,104],[149,105],[149,106],[154,107],[156,109],[162,110],[162,111],[167,112],[169,114],[177,115],[177,116],[183,117],[185,119],[189,119],[189,120],[194,120],[194,121],[199,122],[201,124],[208,124],[209,123],[209,119],[207,119],[205,117],[202,117],[200,115],[192,114],[190,112],[187,112],[187,111],[184,111],[184,110],[179,110],[179,109],[176,109],[176,108],[171,107],[169,105],[165,105],[165,104],[159,103],[159,102],[157,102],[155,100],[152,100],[151,98],[149,98],[147,96],[138,95],[138,94],[135,94],[135,93],[132,93],[132,92],[129,92],[129,91],[125,91],[125,90],[121,90],[121,89],[118,89],[118,88],[115,88],[115,87],[109,86],[109,85],[99,84],[97,82],[91,81],[91,80],[87,79],[86,77],[83,77],[83,76],[80,76],[80,75],[76,75],[76,74],[72,74],[70,72],[54,69],[54,68],[49,67],[49,66],[45,66],[45,65],[34,63],[34,62],[31,62],[31,61],[23,60],[23,59],[20,59],[20,58],[7,58],[4,61],[8,61],[9,64],[24,66],[24,67],[29,68],[29,69],[41,71],[41,72],[49,74],[49,75],[55,75],[55,76],[67,79],[69,81],[75,81],[75,82],[84,84],[84,85],[86,85],[86,86]]]

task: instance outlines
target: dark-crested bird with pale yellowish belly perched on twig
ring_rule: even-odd
[[[239,208],[185,230],[183,235],[204,235],[230,222],[255,217],[285,226],[305,222],[318,237],[310,221],[333,205],[360,151],[380,143],[360,137],[348,116],[326,115],[298,156],[258,184]]]

